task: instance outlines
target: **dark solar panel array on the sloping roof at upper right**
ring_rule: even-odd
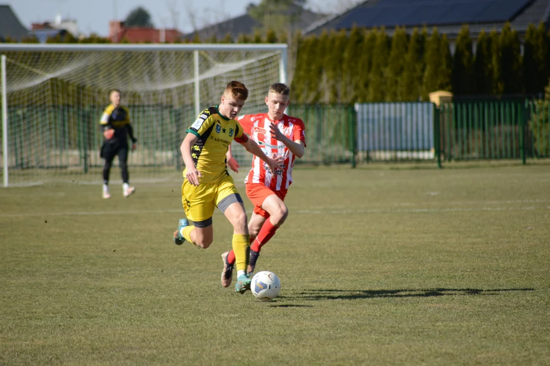
[[[336,25],[367,28],[426,24],[488,23],[511,20],[532,0],[379,0],[352,10]]]

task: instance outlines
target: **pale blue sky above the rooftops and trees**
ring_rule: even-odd
[[[33,22],[53,21],[57,14],[76,19],[79,31],[107,36],[109,21],[124,19],[130,10],[142,6],[149,11],[156,27],[177,27],[193,31],[196,26],[214,24],[244,14],[246,5],[260,0],[0,0],[12,7],[19,20],[30,29]],[[309,0],[307,7],[317,12],[332,13],[342,0]],[[338,4],[338,5],[336,5]]]

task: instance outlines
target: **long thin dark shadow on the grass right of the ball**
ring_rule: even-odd
[[[531,288],[523,289],[403,289],[403,290],[304,290],[295,296],[285,296],[288,300],[358,300],[373,299],[376,297],[432,297],[432,296],[464,296],[464,295],[498,295],[511,291],[535,291]]]

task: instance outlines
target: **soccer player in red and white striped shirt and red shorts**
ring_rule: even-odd
[[[304,155],[304,122],[284,114],[290,104],[290,88],[284,83],[270,86],[266,97],[267,113],[243,115],[237,118],[244,132],[249,134],[263,152],[272,159],[283,157],[281,167],[272,173],[263,161],[255,156],[252,168],[245,179],[246,195],[254,205],[254,213],[248,223],[250,232],[250,261],[247,272],[254,272],[263,245],[269,241],[288,216],[284,198],[292,183],[292,168],[296,157]],[[227,164],[238,172],[239,164],[227,153]],[[222,254],[222,285],[229,287],[233,275],[235,255],[233,251]]]

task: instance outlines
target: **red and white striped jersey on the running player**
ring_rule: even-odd
[[[284,157],[283,166],[273,175],[268,169],[267,164],[259,157],[254,156],[252,159],[252,169],[244,182],[262,183],[272,190],[288,188],[290,183],[292,183],[292,167],[294,166],[296,156],[281,141],[271,137],[270,125],[271,122],[275,123],[284,136],[288,137],[291,141],[301,140],[305,145],[304,122],[299,118],[287,115],[283,115],[283,119],[280,121],[271,121],[267,113],[247,114],[238,117],[237,120],[243,126],[243,131],[248,133],[250,138],[260,145],[263,153],[268,157],[272,159],[275,159],[277,156]]]

